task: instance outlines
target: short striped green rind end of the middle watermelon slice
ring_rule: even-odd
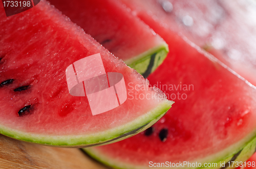
[[[168,45],[163,43],[137,55],[137,57],[126,60],[125,64],[135,69],[146,78],[163,63],[168,52]]]

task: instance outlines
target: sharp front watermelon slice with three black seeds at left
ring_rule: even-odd
[[[4,135],[59,147],[108,144],[151,126],[173,103],[46,1],[9,17],[1,5],[0,27],[0,133]],[[123,75],[127,99],[93,116],[88,97],[69,93],[66,69],[96,53],[105,72]]]

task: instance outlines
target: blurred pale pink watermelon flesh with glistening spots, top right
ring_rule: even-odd
[[[151,15],[159,24],[181,33],[215,55],[256,86],[256,2],[197,0],[123,0],[139,17]],[[168,9],[172,10],[168,10]],[[165,9],[165,10],[164,10]],[[143,20],[143,19],[142,19]]]

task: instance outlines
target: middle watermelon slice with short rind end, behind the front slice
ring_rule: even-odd
[[[144,77],[166,57],[168,46],[163,39],[118,1],[51,0],[50,3]]]

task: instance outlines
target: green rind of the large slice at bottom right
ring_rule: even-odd
[[[241,140],[235,145],[232,145],[228,147],[227,149],[214,154],[212,156],[208,156],[205,159],[197,160],[197,161],[189,161],[190,163],[193,162],[201,162],[202,164],[204,163],[217,163],[218,166],[216,167],[184,167],[184,168],[237,168],[235,164],[231,166],[232,162],[231,161],[238,161],[238,162],[245,162],[248,160],[256,151],[256,131],[252,132],[252,134],[249,134],[246,138]],[[105,156],[103,153],[98,152],[94,148],[85,148],[83,149],[89,156],[92,158],[96,159],[97,161],[107,165],[111,166],[113,168],[118,168],[118,169],[126,169],[126,168],[134,168],[134,169],[141,169],[141,168],[148,168],[145,166],[135,166],[132,163],[127,164],[127,163],[122,163],[120,160],[116,161],[111,159],[109,156]],[[107,154],[106,154],[107,155]],[[171,159],[170,159],[171,160]],[[228,162],[230,161],[230,166]],[[149,161],[148,161],[149,162]],[[157,162],[157,161],[156,161]],[[221,167],[220,163],[226,163],[226,167]],[[175,167],[172,167],[175,168]]]

